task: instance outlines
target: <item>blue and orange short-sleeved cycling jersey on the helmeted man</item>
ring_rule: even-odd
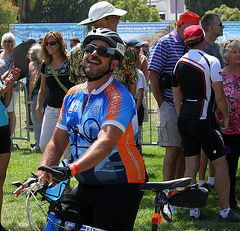
[[[68,131],[73,160],[85,153],[104,125],[118,127],[123,136],[98,165],[77,174],[77,180],[88,185],[143,183],[145,165],[136,148],[138,122],[131,94],[111,77],[102,87],[91,92],[83,109],[87,96],[86,83],[71,88],[57,124],[58,128]]]

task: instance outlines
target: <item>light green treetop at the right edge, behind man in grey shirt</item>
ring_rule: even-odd
[[[237,7],[227,7],[225,4],[206,13],[218,13],[222,21],[240,21],[240,10]]]

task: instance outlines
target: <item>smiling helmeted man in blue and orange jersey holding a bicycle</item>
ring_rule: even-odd
[[[106,28],[92,30],[83,46],[88,80],[68,91],[39,167],[51,166],[48,171],[62,173],[59,180],[76,177],[79,183],[72,193],[79,198],[83,224],[132,230],[143,196],[138,187],[145,182],[146,171],[136,147],[134,99],[112,76],[125,46],[116,32]],[[57,167],[69,141],[73,163]],[[39,181],[53,181],[54,174],[40,170]]]

